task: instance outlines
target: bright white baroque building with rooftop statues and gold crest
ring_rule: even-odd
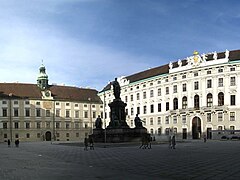
[[[178,139],[213,138],[213,130],[240,130],[240,50],[193,55],[177,62],[120,77],[121,99],[127,103],[127,123],[134,127],[139,114],[156,138],[175,134]],[[108,84],[99,96],[114,99]]]

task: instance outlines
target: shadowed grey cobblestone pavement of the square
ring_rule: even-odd
[[[19,148],[0,144],[1,180],[72,179],[240,179],[240,141],[192,141],[137,144],[84,151],[79,144],[21,143]]]

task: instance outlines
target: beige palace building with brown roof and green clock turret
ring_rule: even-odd
[[[37,84],[0,83],[0,142],[82,141],[103,116],[94,89],[49,85],[46,69]]]

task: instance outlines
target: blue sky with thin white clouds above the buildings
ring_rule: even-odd
[[[240,49],[239,0],[0,0],[0,82],[101,90],[199,53]]]

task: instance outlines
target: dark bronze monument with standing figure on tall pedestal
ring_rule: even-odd
[[[121,98],[121,87],[115,78],[111,83],[115,99],[109,103],[110,122],[106,129],[102,128],[101,118],[98,117],[95,122],[96,128],[93,129],[93,138],[95,142],[131,142],[140,141],[142,136],[147,135],[147,129],[142,126],[141,119],[136,115],[134,122],[135,128],[130,128],[126,122],[127,106]]]

